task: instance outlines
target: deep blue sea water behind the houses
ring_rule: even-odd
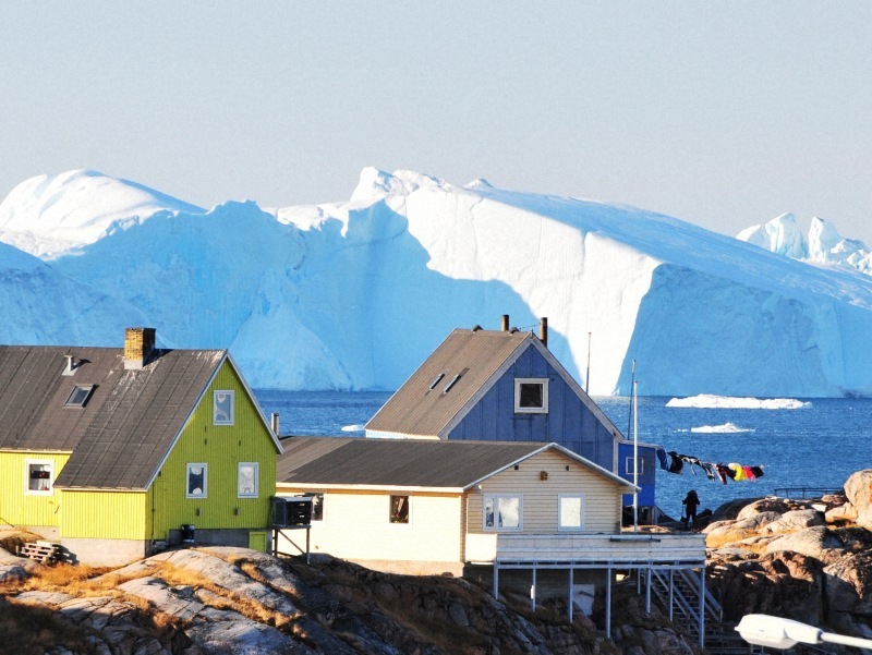
[[[363,425],[390,393],[257,390],[255,396],[267,416],[279,414],[282,435],[363,436]],[[631,437],[629,399],[595,400]],[[694,475],[687,465],[681,474],[658,470],[657,505],[673,517],[681,513],[681,498],[691,488],[700,495],[700,509],[715,510],[728,500],[785,495],[784,489],[840,489],[855,471],[872,469],[872,399],[810,399],[807,407],[777,410],[670,408],[669,400],[639,398],[640,442],[707,462],[764,466],[754,482],[726,485],[695,468]]]

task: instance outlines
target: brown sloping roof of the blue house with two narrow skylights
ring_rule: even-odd
[[[367,430],[441,436],[497,371],[536,338],[530,332],[456,329],[366,424]],[[431,385],[439,375],[438,384]],[[444,392],[445,387],[459,379]]]

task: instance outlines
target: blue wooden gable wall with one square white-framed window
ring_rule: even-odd
[[[514,379],[524,377],[548,378],[547,413],[514,412]],[[528,348],[518,357],[447,438],[556,441],[617,472],[615,437],[535,348]]]

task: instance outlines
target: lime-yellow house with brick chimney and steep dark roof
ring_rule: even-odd
[[[0,345],[0,530],[112,566],[267,548],[281,446],[225,350]]]

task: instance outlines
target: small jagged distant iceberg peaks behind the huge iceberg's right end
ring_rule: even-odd
[[[813,217],[808,240],[792,214],[783,214],[762,226],[746,228],[736,236],[767,251],[827,266],[872,275],[872,253],[862,241],[844,239],[825,218]]]

